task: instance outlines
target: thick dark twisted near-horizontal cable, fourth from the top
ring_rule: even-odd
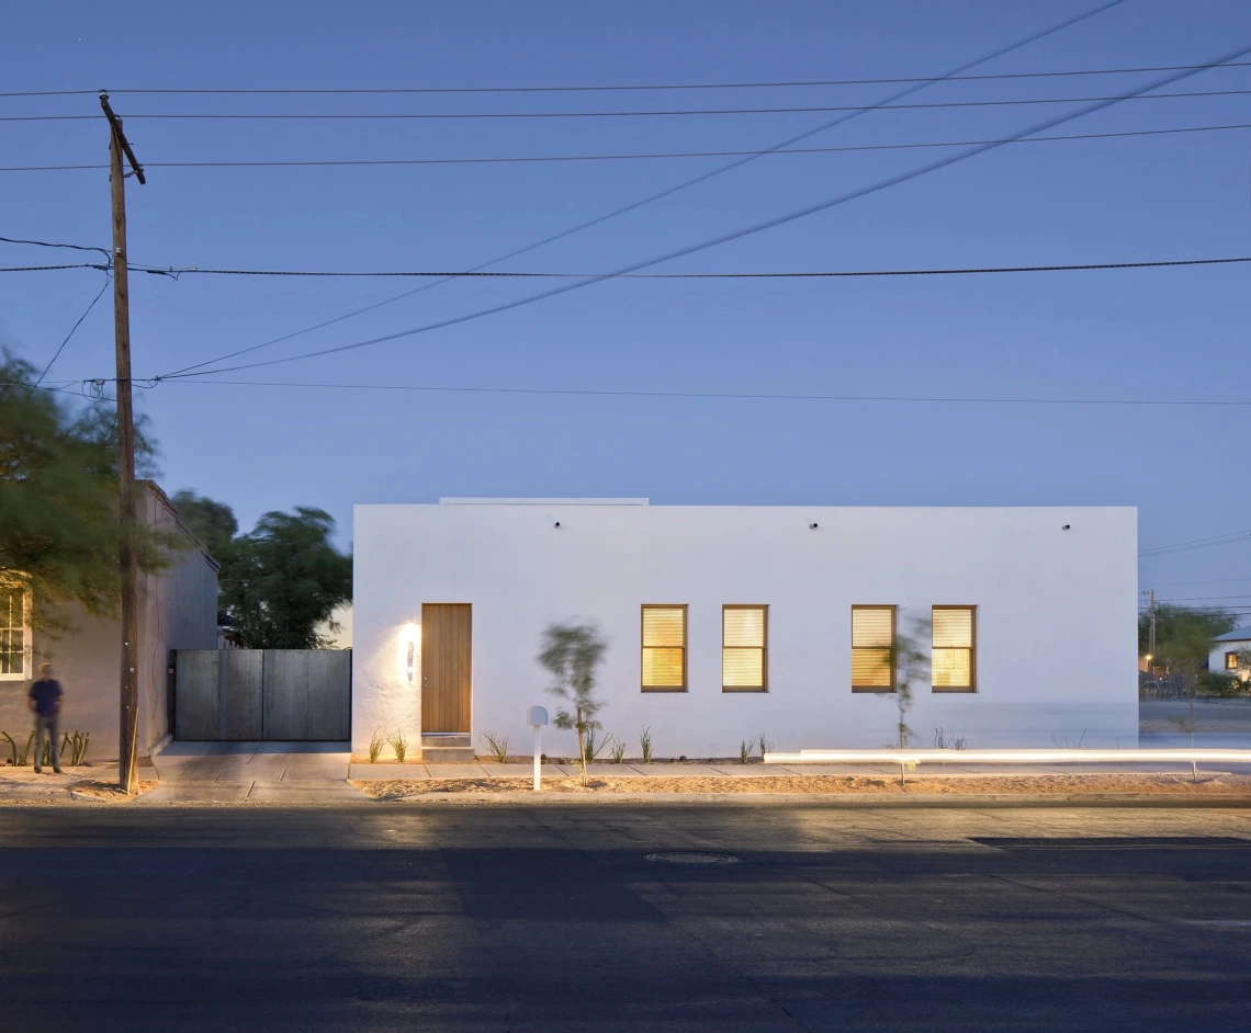
[[[1173,259],[1167,261],[1102,261],[1087,264],[1067,265],[995,265],[972,266],[958,269],[853,269],[853,270],[811,270],[811,271],[778,271],[778,273],[623,273],[617,279],[620,280],[803,280],[803,279],[829,279],[839,276],[957,276],[987,273],[1076,273],[1100,269],[1163,269],[1182,265],[1232,265],[1251,261],[1246,258],[1217,258],[1217,259]],[[40,266],[46,269],[73,269],[79,266]],[[583,278],[610,276],[608,273],[519,273],[519,271],[352,271],[352,270],[313,270],[313,269],[200,269],[198,266],[144,266],[130,264],[131,269],[156,275],[176,276],[347,276],[347,278],[447,278],[447,279],[564,279],[577,280]],[[5,270],[0,269],[0,273]]]

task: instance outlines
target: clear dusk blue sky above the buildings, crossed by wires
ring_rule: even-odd
[[[574,3],[10,6],[0,90],[108,88],[148,166],[130,256],[163,266],[465,269],[727,159],[387,168],[166,161],[484,158],[762,149],[833,118],[164,121],[151,113],[607,111],[871,104],[888,85],[648,93],[151,96],[141,88],[577,86],[929,76],[1093,3]],[[296,15],[298,10],[298,15]],[[1210,60],[1251,5],[1128,0],[978,69]],[[1251,60],[1251,59],[1243,59]],[[1152,74],[940,84],[912,103],[1108,96]],[[1251,68],[1168,91],[1251,90]],[[1077,104],[1072,108],[1080,106]],[[1066,105],[878,111],[804,146],[985,140]],[[91,95],[0,115],[98,115]],[[1251,95],[1128,101],[1053,130],[1251,123]],[[3,165],[108,160],[100,119],[0,123]],[[658,266],[776,271],[1251,254],[1251,130],[1013,144]],[[504,263],[597,273],[919,166],[947,150],[772,155]],[[108,246],[103,171],[0,173],[0,235]],[[74,261],[0,245],[0,265]],[[380,385],[977,398],[1251,400],[1251,268],[813,280],[615,280],[418,336],[220,379]],[[38,366],[95,270],[0,274],[0,341]],[[410,290],[412,280],[131,274],[134,371],[193,363]],[[535,293],[460,280],[263,349],[281,358]],[[50,379],[113,375],[106,294]],[[234,364],[234,363],[230,363]],[[1247,408],[604,398],[166,381],[139,391],[161,484],[259,514],[439,496],[653,503],[1140,506],[1143,547],[1251,529]],[[1251,604],[1251,538],[1143,560],[1142,587]],[[1226,580],[1241,578],[1241,580]],[[1213,597],[1231,597],[1216,599]],[[1245,598],[1233,598],[1245,597]]]

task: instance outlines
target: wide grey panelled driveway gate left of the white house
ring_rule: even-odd
[[[178,739],[352,735],[350,649],[178,649],[174,669]]]

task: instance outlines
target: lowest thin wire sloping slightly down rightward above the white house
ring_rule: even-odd
[[[206,380],[205,374],[188,378],[158,378],[163,384],[220,384],[233,388],[319,388],[358,391],[419,391],[433,394],[504,394],[504,395],[573,395],[588,398],[668,398],[726,401],[829,401],[829,403],[901,403],[926,405],[1132,405],[1132,406],[1215,406],[1251,408],[1247,401],[1213,399],[1132,399],[1132,398],[988,398],[961,395],[847,395],[847,394],[786,394],[758,391],[634,391],[584,388],[475,388],[424,384],[345,384],[337,381],[309,383],[289,380]]]

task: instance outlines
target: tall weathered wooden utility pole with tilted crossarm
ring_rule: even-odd
[[[135,413],[130,399],[130,295],[126,276],[126,183],[121,155],[145,183],[121,120],[100,94],[109,120],[109,189],[113,194],[113,334],[118,355],[118,509],[121,522],[121,720],[118,785],[126,795],[139,790],[139,570],[135,557]]]

